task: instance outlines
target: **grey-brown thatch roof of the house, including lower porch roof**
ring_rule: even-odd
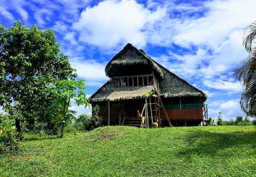
[[[150,65],[158,74],[161,96],[164,96],[165,98],[199,96],[203,100],[207,99],[207,95],[204,92],[198,90],[184,79],[167,70],[165,67],[151,59],[142,50],[138,50],[131,44],[127,44],[124,49],[115,55],[115,57],[107,64],[105,72],[106,75],[110,77],[110,80],[91,96],[91,102],[145,98],[145,94],[148,91],[151,91],[153,86],[115,88],[111,85],[111,77],[113,77],[111,75],[112,67],[115,67],[116,65],[140,65],[142,63]]]

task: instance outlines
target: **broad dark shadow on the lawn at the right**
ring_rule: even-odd
[[[187,146],[182,147],[177,156],[212,156],[221,155],[229,157],[230,154],[239,152],[242,148],[256,149],[256,132],[229,132],[217,133],[203,130],[190,131],[185,141]],[[248,148],[248,146],[250,148]],[[228,148],[236,148],[229,151]],[[242,151],[241,151],[242,152]],[[237,154],[239,156],[239,154]]]

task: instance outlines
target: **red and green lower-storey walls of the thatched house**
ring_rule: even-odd
[[[162,98],[162,101],[171,123],[174,126],[198,125],[203,120],[203,101],[199,97]],[[92,106],[95,106],[95,104],[98,104],[100,107],[100,115],[103,118],[103,123],[107,125],[107,102],[94,102]],[[119,125],[119,112],[121,111],[123,104],[125,104],[125,114],[127,117],[137,117],[137,110],[140,112],[142,111],[145,99],[110,102],[110,125]],[[121,117],[123,119],[123,114]],[[163,126],[169,126],[162,109],[161,119],[163,120]]]

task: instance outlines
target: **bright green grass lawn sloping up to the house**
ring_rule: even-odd
[[[63,139],[26,134],[0,176],[255,176],[253,126],[110,126]]]

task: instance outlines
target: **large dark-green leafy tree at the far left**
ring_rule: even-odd
[[[0,106],[7,111],[35,117],[52,99],[47,86],[76,77],[74,71],[67,56],[60,53],[52,30],[22,26],[21,21],[9,29],[0,25]],[[15,125],[20,131],[18,117]]]

